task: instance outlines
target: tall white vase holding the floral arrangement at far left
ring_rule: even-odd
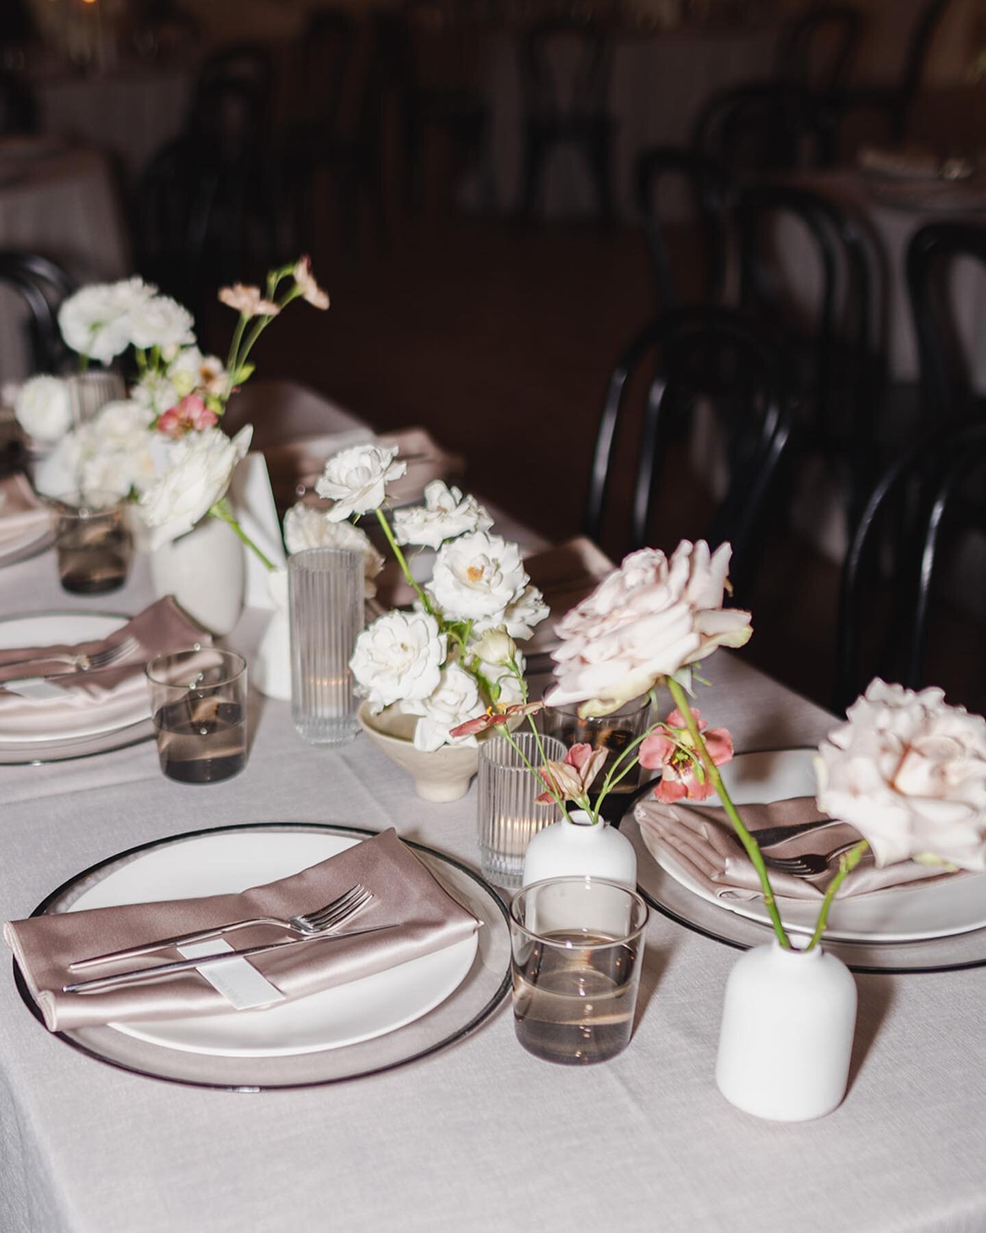
[[[243,612],[243,552],[232,526],[206,518],[187,535],[150,554],[154,592],[174,596],[211,634],[228,634]]]

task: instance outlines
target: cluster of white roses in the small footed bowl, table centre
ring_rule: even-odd
[[[378,572],[378,554],[346,519],[376,518],[415,603],[409,612],[385,613],[360,634],[350,661],[357,689],[372,714],[394,708],[413,715],[419,750],[476,746],[478,731],[457,726],[478,708],[504,721],[515,713],[525,667],[515,639],[530,637],[548,609],[520,549],[491,533],[493,519],[475,497],[435,480],[423,506],[388,518],[387,485],[405,471],[396,448],[356,445],[330,457],[316,491],[332,506],[324,513],[288,510],[287,547],[351,547],[362,552],[370,576]],[[404,547],[436,552],[429,582],[415,581]]]

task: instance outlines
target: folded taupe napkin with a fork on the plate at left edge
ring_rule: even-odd
[[[148,692],[144,665],[155,655],[179,651],[196,642],[207,646],[212,639],[177,607],[170,596],[158,599],[108,637],[74,646],[18,646],[0,651],[0,686],[5,678],[43,676],[48,672],[70,671],[64,665],[41,658],[47,655],[92,655],[106,647],[118,646],[129,637],[137,646],[122,660],[106,668],[71,673],[49,682],[59,688],[51,698],[22,698],[0,688],[0,740],[5,736],[43,737],[54,731],[89,724],[95,715],[112,725],[120,720],[137,723],[147,716]],[[38,661],[23,667],[5,668],[28,656]]]

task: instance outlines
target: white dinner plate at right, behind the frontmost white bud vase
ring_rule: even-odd
[[[738,753],[722,767],[726,788],[737,805],[769,804],[813,797],[815,750],[772,750]],[[695,882],[670,857],[657,862],[687,890],[723,911],[769,924],[762,899],[720,899]],[[645,888],[646,889],[646,888]],[[778,896],[780,917],[794,933],[815,931],[818,899]],[[896,887],[866,895],[837,898],[828,914],[826,937],[847,942],[916,942],[949,937],[986,926],[986,874],[943,878],[923,887]]]

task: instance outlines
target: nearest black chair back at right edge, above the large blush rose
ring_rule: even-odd
[[[986,472],[984,423],[919,441],[886,470],[874,488],[843,562],[833,698],[837,714],[876,674],[910,689],[929,684],[924,657],[942,531],[947,523],[953,538],[961,531],[950,517],[956,512],[966,515],[969,528],[982,525],[981,499],[966,499],[968,480],[976,471]],[[887,536],[891,520],[894,534]],[[876,559],[887,546],[894,560],[885,584]],[[891,615],[874,662],[864,665],[864,625],[871,593],[868,582],[874,577],[887,594]]]

